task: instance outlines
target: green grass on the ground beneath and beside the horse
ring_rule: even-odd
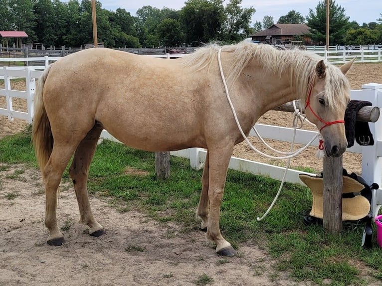
[[[154,153],[104,141],[98,146],[91,164],[89,192],[114,197],[121,202],[120,211],[138,210],[159,222],[177,222],[183,233],[197,230],[200,221],[195,219],[194,213],[202,171],[192,170],[185,159],[171,157],[171,176],[159,181],[155,177],[154,161]],[[30,134],[21,133],[0,140],[0,163],[36,167]],[[141,172],[127,174],[127,168]],[[64,177],[69,177],[67,171]],[[371,281],[382,284],[381,249],[375,238],[373,249],[360,247],[362,227],[346,228],[339,235],[331,235],[319,225],[304,226],[303,216],[312,206],[311,192],[307,188],[285,184],[268,217],[257,222],[256,217],[268,208],[278,186],[278,181],[269,178],[228,171],[220,229],[235,248],[240,251],[243,242],[259,245],[276,260],[275,276],[288,271],[297,282],[331,286],[363,286]],[[136,248],[128,246],[126,251],[142,251]],[[217,260],[216,264],[223,263],[226,260]],[[206,279],[208,276],[204,278],[195,283],[211,283]]]

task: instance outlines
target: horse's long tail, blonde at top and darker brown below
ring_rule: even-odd
[[[32,125],[32,142],[36,152],[38,166],[40,167],[42,175],[44,174],[45,165],[48,162],[53,149],[53,136],[50,129],[50,122],[46,114],[42,98],[45,80],[48,76],[50,67],[51,65],[45,69],[37,82],[33,103],[34,115]]]

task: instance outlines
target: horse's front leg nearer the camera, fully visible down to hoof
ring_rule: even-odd
[[[236,251],[220,233],[220,206],[224,193],[225,178],[233,144],[222,148],[209,149],[209,220],[206,237],[217,244],[216,253],[223,256],[233,256]]]

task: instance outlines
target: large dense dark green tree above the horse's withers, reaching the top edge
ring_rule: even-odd
[[[222,0],[188,0],[180,11],[186,43],[193,46],[217,40],[225,19]]]

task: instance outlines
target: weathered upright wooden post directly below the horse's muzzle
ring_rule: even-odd
[[[342,230],[342,156],[324,157],[324,229],[331,233]]]

